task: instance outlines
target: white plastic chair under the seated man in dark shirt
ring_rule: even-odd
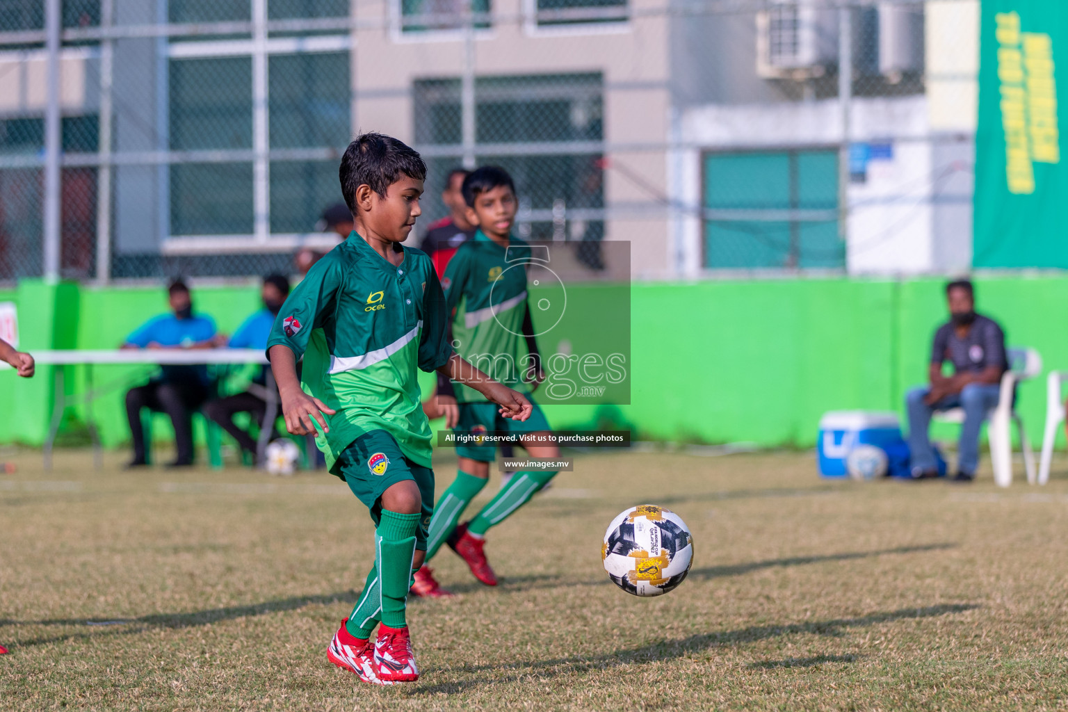
[[[1012,484],[1012,437],[1009,423],[1016,423],[1020,436],[1020,448],[1023,450],[1023,465],[1027,471],[1027,482],[1034,485],[1037,478],[1035,472],[1035,453],[1031,449],[1027,433],[1023,429],[1020,414],[1012,408],[1012,395],[1016,384],[1034,378],[1042,373],[1042,357],[1035,349],[1007,349],[1008,370],[1002,376],[1001,391],[998,395],[998,407],[992,409],[987,417],[987,439],[990,441],[990,462],[994,470],[994,482],[1000,487]],[[1059,396],[1059,384],[1058,394]],[[964,411],[952,408],[934,414],[934,420],[942,423],[963,423]],[[1047,432],[1049,432],[1049,416],[1047,415]],[[1054,425],[1054,428],[1056,426]],[[1045,445],[1043,445],[1045,457]],[[1048,474],[1048,473],[1047,473]]]

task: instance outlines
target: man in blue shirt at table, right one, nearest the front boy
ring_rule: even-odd
[[[282,308],[285,298],[289,296],[289,280],[281,274],[269,274],[264,278],[263,290],[260,294],[264,300],[264,307],[238,327],[234,335],[230,337],[227,344],[230,348],[267,350],[267,338],[270,336],[271,327],[274,326],[274,317]],[[241,449],[255,457],[256,441],[234,424],[234,413],[250,413],[252,420],[260,427],[264,427],[263,421],[267,415],[267,401],[264,399],[266,378],[263,369],[252,379],[252,382],[258,387],[250,387],[244,393],[208,401],[204,406],[204,414],[233,436]],[[270,427],[273,429],[273,424]]]

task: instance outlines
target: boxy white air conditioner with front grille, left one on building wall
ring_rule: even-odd
[[[814,0],[781,2],[756,14],[756,73],[819,77],[838,57],[838,14]]]

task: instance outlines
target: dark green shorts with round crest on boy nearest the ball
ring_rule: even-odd
[[[426,551],[426,531],[434,516],[433,470],[407,459],[397,441],[386,430],[370,430],[354,440],[339,456],[337,464],[352,494],[367,506],[375,526],[382,516],[382,492],[406,479],[414,480],[423,500],[415,549]]]

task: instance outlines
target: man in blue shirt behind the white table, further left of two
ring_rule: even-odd
[[[175,280],[168,287],[171,314],[148,319],[126,337],[124,349],[207,349],[217,346],[215,321],[209,316],[193,314],[189,287]],[[208,397],[207,367],[203,364],[163,365],[159,376],[145,385],[126,392],[126,417],[134,438],[134,459],[130,468],[147,464],[141,409],[167,413],[174,426],[177,458],[169,466],[193,463],[192,411]]]

